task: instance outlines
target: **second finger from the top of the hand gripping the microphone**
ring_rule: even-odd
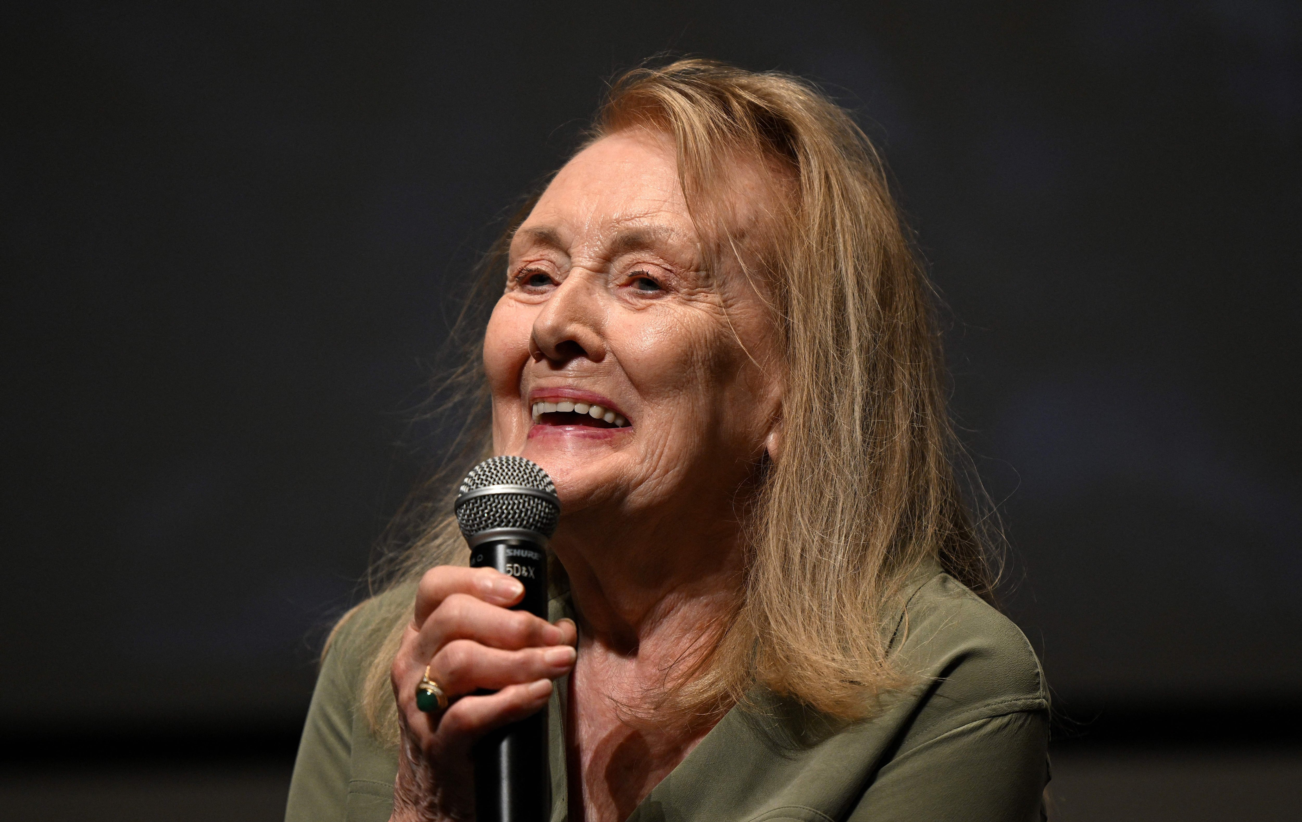
[[[513,651],[560,645],[564,636],[561,628],[529,611],[508,611],[467,594],[452,594],[421,625],[411,654],[415,660],[428,662],[453,640],[474,640],[488,647]]]

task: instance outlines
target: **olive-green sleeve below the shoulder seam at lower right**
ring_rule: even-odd
[[[888,762],[853,822],[1035,822],[1044,819],[1048,714],[988,716]]]

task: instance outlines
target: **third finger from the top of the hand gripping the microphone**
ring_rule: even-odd
[[[430,662],[430,675],[449,697],[480,688],[499,690],[540,679],[565,676],[574,666],[569,645],[505,651],[471,640],[448,642]]]

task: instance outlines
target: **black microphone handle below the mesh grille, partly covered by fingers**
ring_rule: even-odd
[[[470,548],[471,568],[496,568],[525,586],[513,611],[547,619],[547,552],[526,539]],[[484,692],[491,693],[491,692]],[[552,813],[547,706],[475,743],[475,822],[547,822]]]

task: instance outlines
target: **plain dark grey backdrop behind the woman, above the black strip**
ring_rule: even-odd
[[[1299,8],[8,4],[0,724],[298,720],[469,266],[661,50],[883,146],[1060,701],[1297,702]]]

